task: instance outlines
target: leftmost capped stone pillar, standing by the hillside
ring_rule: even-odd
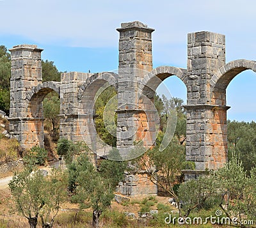
[[[35,145],[44,146],[42,103],[33,112],[27,99],[31,88],[42,83],[42,50],[36,45],[17,45],[10,49],[10,134],[28,149]]]

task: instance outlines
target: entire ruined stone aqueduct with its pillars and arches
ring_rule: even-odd
[[[225,63],[225,36],[202,31],[188,34],[187,69],[175,66],[152,68],[152,39],[154,29],[141,22],[123,23],[117,29],[119,39],[119,67],[115,73],[78,73],[61,75],[61,82],[42,83],[41,52],[36,45],[18,45],[12,54],[10,131],[22,146],[44,146],[42,100],[51,91],[60,95],[60,137],[72,141],[84,139],[93,144],[93,100],[106,82],[118,91],[117,147],[131,146],[134,140],[148,132],[154,137],[154,121],[148,121],[141,105],[147,104],[139,94],[149,97],[159,81],[176,75],[187,88],[186,160],[195,162],[196,171],[218,169],[227,162],[226,88],[237,74],[244,70],[256,72],[256,62],[244,59]],[[138,69],[148,73],[138,73]],[[138,84],[144,85],[143,87]],[[150,86],[149,86],[150,85]],[[148,91],[148,87],[151,87]],[[152,89],[153,87],[153,89]],[[152,100],[152,95],[149,97]],[[81,105],[81,100],[83,103]],[[132,104],[137,105],[132,105]],[[83,118],[79,118],[83,112]],[[136,121],[137,132],[127,119]],[[83,123],[81,123],[81,121]],[[147,123],[149,122],[149,123]],[[147,128],[147,129],[146,129]],[[186,172],[186,171],[185,171]],[[189,177],[189,176],[188,176]]]

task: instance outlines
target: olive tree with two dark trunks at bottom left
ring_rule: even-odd
[[[8,185],[18,211],[28,219],[31,228],[36,227],[38,216],[44,228],[52,227],[60,204],[65,201],[65,179],[61,171],[46,177],[40,170],[15,173]]]

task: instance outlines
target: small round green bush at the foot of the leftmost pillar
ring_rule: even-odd
[[[40,148],[40,146],[34,146],[31,148],[23,158],[24,163],[31,169],[35,165],[44,165],[46,159],[47,151],[44,148]]]

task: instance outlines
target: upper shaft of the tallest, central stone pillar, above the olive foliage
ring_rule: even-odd
[[[154,29],[141,22],[122,23],[119,39],[117,148],[129,148],[143,138],[147,115],[141,100],[139,84],[152,70]]]

